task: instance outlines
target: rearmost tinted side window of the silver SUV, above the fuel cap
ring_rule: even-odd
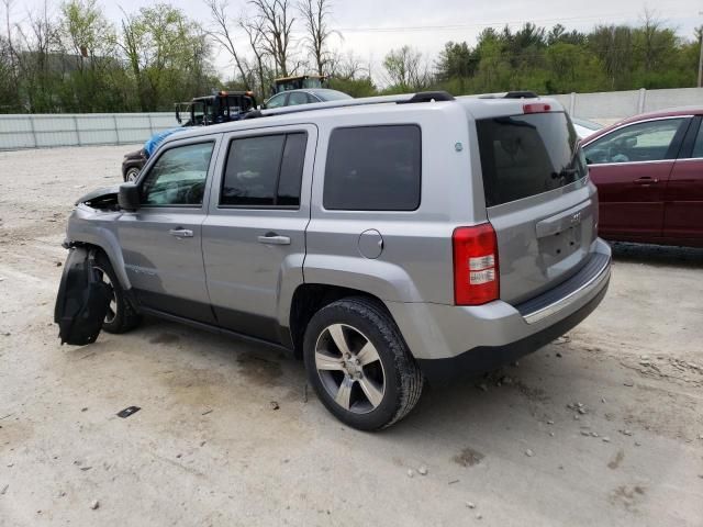
[[[421,166],[416,125],[336,128],[330,136],[323,204],[327,210],[414,211]]]

